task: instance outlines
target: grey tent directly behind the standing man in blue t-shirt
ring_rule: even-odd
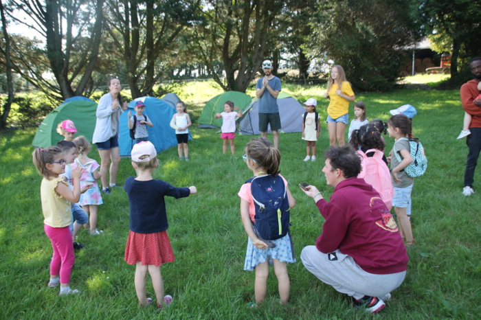
[[[280,92],[277,98],[279,106],[280,131],[284,133],[300,133],[302,129],[302,115],[306,112],[304,106],[288,93]],[[260,135],[258,100],[255,100],[251,110],[240,120],[239,130],[243,135]],[[269,133],[271,129],[269,126]]]

